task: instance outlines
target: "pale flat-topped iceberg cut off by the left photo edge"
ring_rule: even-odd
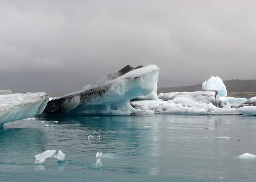
[[[26,119],[41,114],[48,102],[44,92],[0,95],[0,127],[6,122]]]

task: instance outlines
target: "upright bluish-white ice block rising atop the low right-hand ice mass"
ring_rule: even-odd
[[[220,77],[211,77],[202,84],[203,91],[218,91],[218,96],[226,97],[227,89]]]

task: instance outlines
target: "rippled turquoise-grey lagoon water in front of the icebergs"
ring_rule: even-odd
[[[41,115],[0,128],[0,181],[255,181],[256,159],[237,158],[256,154],[255,137],[252,116]],[[47,149],[66,160],[34,165]],[[118,157],[92,169],[97,151]]]

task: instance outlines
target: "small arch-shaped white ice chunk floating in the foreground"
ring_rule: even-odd
[[[56,150],[47,150],[43,152],[42,154],[37,154],[35,155],[35,164],[44,164],[45,159],[48,157],[53,157],[58,159],[59,161],[64,161],[65,160],[65,154],[62,153],[61,150],[58,151],[58,154],[53,156],[55,154]]]

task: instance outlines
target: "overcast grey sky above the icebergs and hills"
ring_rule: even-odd
[[[0,1],[0,89],[78,91],[128,64],[157,65],[159,88],[256,79],[256,1]]]

